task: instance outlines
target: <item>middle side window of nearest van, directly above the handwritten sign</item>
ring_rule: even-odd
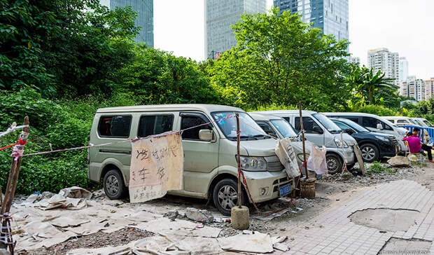
[[[137,137],[147,137],[148,135],[158,135],[172,131],[173,125],[173,115],[144,115],[139,120]]]

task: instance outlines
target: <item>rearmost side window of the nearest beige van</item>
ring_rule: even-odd
[[[101,116],[98,133],[101,137],[129,137],[132,116]]]

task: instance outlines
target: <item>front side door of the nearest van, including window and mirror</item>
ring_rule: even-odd
[[[209,173],[218,167],[220,137],[218,137],[216,126],[210,123],[209,118],[204,113],[181,112],[179,116],[181,118],[180,130],[184,130],[182,132],[184,191],[207,193],[207,184],[211,181]],[[195,127],[197,125],[202,126]],[[214,139],[211,141],[200,140],[200,130],[213,130]]]

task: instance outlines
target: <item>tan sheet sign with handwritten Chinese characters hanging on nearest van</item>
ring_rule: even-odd
[[[183,189],[183,161],[179,133],[132,142],[130,201],[146,202]]]

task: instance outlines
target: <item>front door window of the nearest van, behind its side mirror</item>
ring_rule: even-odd
[[[199,130],[212,130],[212,125],[202,125],[209,123],[207,116],[202,113],[181,113],[181,130],[185,130],[189,127],[201,125],[200,127],[190,128],[182,132],[182,139],[185,140],[200,140]]]

